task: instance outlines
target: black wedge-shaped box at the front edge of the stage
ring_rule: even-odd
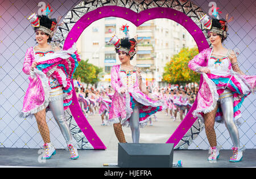
[[[118,143],[118,167],[170,168],[173,143]]]

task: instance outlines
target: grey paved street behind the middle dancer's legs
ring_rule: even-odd
[[[154,117],[152,118],[152,126],[148,122],[146,127],[140,129],[140,143],[166,143],[180,124],[180,120],[173,121],[170,115],[166,116],[165,112],[156,113],[156,117],[157,121],[155,121]],[[113,126],[101,126],[101,117],[99,114],[88,116],[87,119],[107,149],[117,150],[118,140],[115,137]],[[123,133],[125,133],[127,142],[131,143],[130,127],[123,127]]]

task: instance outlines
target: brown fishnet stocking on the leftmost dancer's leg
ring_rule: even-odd
[[[46,123],[46,109],[35,113],[36,122],[38,123],[38,129],[44,140],[44,143],[50,143],[49,128]]]

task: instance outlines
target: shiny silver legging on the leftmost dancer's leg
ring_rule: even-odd
[[[63,99],[56,100],[49,103],[49,108],[52,111],[55,121],[60,127],[60,131],[63,134],[66,142],[68,144],[72,143],[72,135],[69,130],[68,122],[65,119],[64,108],[63,108]]]

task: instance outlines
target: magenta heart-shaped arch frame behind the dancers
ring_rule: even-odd
[[[125,8],[125,7],[104,6],[88,12],[76,22],[76,24],[73,26],[71,31],[68,33],[67,38],[65,39],[64,49],[71,48],[73,43],[79,39],[84,29],[88,27],[91,23],[95,22],[96,20],[107,18],[110,16],[129,20],[131,23],[135,24],[137,27],[151,19],[156,19],[156,18],[171,19],[183,25],[183,27],[187,29],[187,31],[193,36],[193,39],[195,39],[196,41],[199,52],[201,52],[205,48],[209,48],[208,42],[205,39],[205,36],[201,31],[201,29],[197,27],[196,23],[194,23],[193,20],[189,18],[187,15],[185,15],[183,12],[174,10],[172,8],[167,8],[167,7],[155,7],[155,8],[150,8],[148,10],[144,10],[142,12],[136,13],[130,10],[129,8]],[[201,87],[201,83],[200,83],[200,87]],[[88,120],[82,113],[82,110],[80,108],[79,102],[76,97],[75,90],[73,90],[72,101],[73,103],[70,106],[71,113],[75,118],[77,125],[85,134],[85,137],[88,139],[90,144],[92,144],[94,149],[105,150],[106,146],[98,137],[98,135],[95,133],[92,126],[90,126]],[[191,114],[192,111],[195,109],[196,105],[197,105],[197,100],[193,104],[187,116],[180,123],[180,125],[175,130],[174,134],[171,135],[171,137],[167,140],[166,143],[174,143],[174,146],[176,146],[176,144],[179,143],[180,139],[182,139],[185,133],[187,133],[187,131],[191,128],[193,123],[196,121],[196,119],[193,118]]]

